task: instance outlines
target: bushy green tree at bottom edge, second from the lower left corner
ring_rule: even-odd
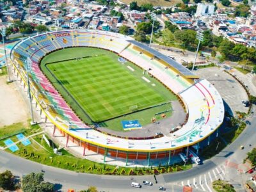
[[[22,179],[22,190],[28,192],[53,192],[54,184],[44,182],[44,173],[30,173]]]

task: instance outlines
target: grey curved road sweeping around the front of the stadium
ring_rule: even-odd
[[[166,189],[171,191],[181,191],[182,186],[178,186],[181,180],[195,178],[198,175],[205,175],[212,169],[225,164],[225,161],[236,162],[237,164],[242,163],[246,153],[252,150],[252,147],[256,147],[255,140],[255,129],[256,129],[256,116],[248,118],[251,125],[248,125],[244,129],[243,133],[234,141],[228,145],[220,154],[212,157],[211,159],[204,161],[204,164],[195,166],[191,170],[186,172],[172,173],[158,175],[158,184],[154,186],[143,186],[140,191],[157,190],[158,186],[165,186]],[[249,147],[252,144],[252,147]],[[239,149],[240,145],[244,145],[244,150]],[[67,191],[68,188],[74,189],[86,189],[88,186],[97,186],[99,190],[104,191],[134,191],[136,188],[131,188],[131,177],[124,176],[111,176],[111,175],[91,175],[86,173],[76,173],[67,170],[61,170],[58,168],[52,168],[44,166],[33,161],[22,159],[21,157],[14,156],[8,152],[0,150],[0,170],[12,170],[15,175],[22,176],[31,172],[40,172],[41,169],[45,170],[45,180],[49,180],[56,184],[60,184],[61,191]],[[237,191],[244,191],[243,184],[241,183],[241,175],[237,174],[237,170],[225,171],[225,180],[230,180],[234,184]],[[134,176],[134,180],[142,183],[143,180],[154,181],[152,175],[149,176]],[[242,182],[244,182],[242,178]],[[186,184],[186,183],[185,183]],[[191,184],[193,186],[193,184]],[[209,186],[211,184],[209,183]],[[170,191],[168,190],[168,191]],[[209,189],[210,190],[210,189]],[[209,191],[206,188],[206,191]],[[193,191],[200,191],[200,189],[194,189]]]

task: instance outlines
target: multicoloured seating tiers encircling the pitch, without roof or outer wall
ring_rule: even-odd
[[[129,149],[131,144],[129,140],[107,136],[81,122],[40,70],[40,60],[45,54],[56,49],[77,46],[98,47],[116,52],[126,60],[130,60],[148,71],[182,98],[189,113],[188,122],[179,131],[175,132],[175,136],[164,136],[152,140],[132,140],[134,150],[182,147],[188,145],[188,142],[190,142],[188,138],[193,137],[195,132],[197,132],[197,136],[203,137],[211,134],[221,124],[224,116],[223,101],[214,86],[205,79],[200,79],[195,84],[191,83],[172,68],[166,67],[159,60],[152,58],[150,54],[144,54],[134,49],[134,45],[127,42],[129,39],[131,38],[104,31],[52,31],[22,40],[13,47],[12,58],[15,65],[19,64],[18,68],[21,70],[21,74],[25,74],[25,62],[28,57],[31,58],[33,65],[29,77],[31,79],[31,90],[36,95],[36,99],[44,104],[45,112],[52,120],[58,118],[61,122],[72,125],[72,130],[70,129],[69,132],[77,138],[84,138],[85,132],[89,132],[90,141],[99,143],[100,146],[108,145],[106,139],[116,142],[116,147],[124,150]],[[26,77],[24,76],[24,78]],[[56,124],[65,127],[61,122],[58,121]],[[86,131],[76,130],[76,128],[81,127],[86,128]],[[67,126],[65,129],[67,129]],[[200,133],[198,134],[198,132]],[[89,140],[89,138],[86,138],[86,140]]]

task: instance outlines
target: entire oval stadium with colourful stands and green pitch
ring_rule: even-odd
[[[36,111],[52,123],[51,136],[61,132],[66,147],[76,143],[83,156],[90,150],[102,154],[104,162],[106,156],[170,162],[182,151],[188,156],[189,147],[198,152],[202,141],[209,145],[223,122],[223,100],[209,81],[129,36],[51,31],[16,44],[11,60],[24,90],[30,86]],[[171,127],[166,118],[168,131],[159,132],[159,118],[177,113],[173,100],[184,119]],[[159,133],[138,136],[147,124]],[[102,131],[104,126],[123,126],[132,136],[118,134],[119,128],[115,134]]]

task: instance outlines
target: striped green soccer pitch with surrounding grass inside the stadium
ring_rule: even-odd
[[[154,114],[171,108],[170,103],[159,105],[175,100],[173,93],[156,79],[143,75],[141,68],[129,61],[122,64],[118,58],[117,54],[103,49],[68,48],[45,56],[41,68],[71,108],[87,123],[120,127],[121,120],[128,118],[141,122],[141,117],[150,123]],[[150,83],[142,79],[143,76]],[[139,112],[132,113],[134,111]]]

